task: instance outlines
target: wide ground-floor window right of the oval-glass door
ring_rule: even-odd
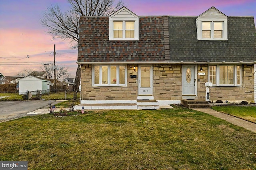
[[[214,65],[208,69],[209,81],[213,86],[241,86],[240,65]]]

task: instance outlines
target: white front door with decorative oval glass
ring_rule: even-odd
[[[196,65],[182,66],[182,95],[196,96]]]

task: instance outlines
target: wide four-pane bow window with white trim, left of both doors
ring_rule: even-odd
[[[125,65],[95,65],[92,71],[93,86],[126,86]]]

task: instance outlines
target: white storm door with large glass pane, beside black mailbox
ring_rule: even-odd
[[[138,95],[153,95],[153,69],[152,66],[138,67]]]

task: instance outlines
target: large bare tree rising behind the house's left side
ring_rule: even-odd
[[[70,40],[72,48],[78,48],[80,16],[108,16],[123,6],[122,0],[68,0],[69,11],[62,12],[58,5],[49,6],[41,23],[53,38]],[[74,91],[79,90],[81,69],[78,65]],[[75,97],[76,99],[76,97]]]

